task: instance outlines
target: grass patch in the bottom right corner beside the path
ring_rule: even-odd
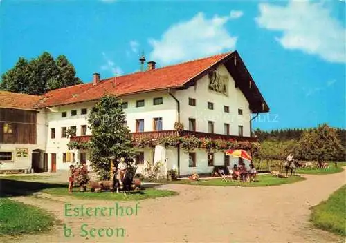
[[[320,229],[346,236],[346,185],[312,208],[311,222]]]

